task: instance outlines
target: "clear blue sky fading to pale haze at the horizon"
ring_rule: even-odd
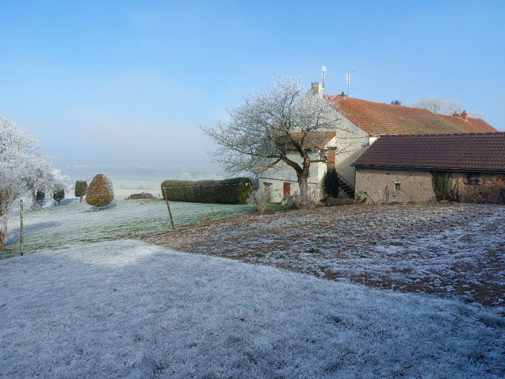
[[[214,173],[213,124],[274,74],[410,105],[440,96],[505,130],[505,2],[0,0],[0,113],[60,165]],[[167,171],[167,172],[168,172]]]

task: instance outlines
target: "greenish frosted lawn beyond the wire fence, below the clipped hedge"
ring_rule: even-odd
[[[83,200],[57,207],[24,212],[25,252],[56,249],[74,244],[130,238],[171,228],[165,201],[114,200],[106,208],[95,211]],[[205,218],[222,218],[249,212],[249,206],[226,204],[171,203],[177,226],[199,222]],[[11,212],[7,248],[0,258],[19,254],[19,212]]]

